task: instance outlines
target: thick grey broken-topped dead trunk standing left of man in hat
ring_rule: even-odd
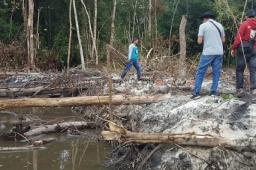
[[[179,25],[179,43],[181,46],[181,52],[179,56],[179,77],[186,76],[186,16],[182,16],[181,25]]]

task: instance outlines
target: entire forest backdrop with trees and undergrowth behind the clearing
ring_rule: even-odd
[[[140,39],[140,61],[166,69],[179,59],[180,25],[185,25],[186,61],[194,61],[199,20],[216,14],[225,28],[224,67],[235,65],[230,47],[244,12],[253,0],[2,0],[0,61],[2,70],[61,70],[105,67],[107,51],[114,68],[123,68],[131,39]]]

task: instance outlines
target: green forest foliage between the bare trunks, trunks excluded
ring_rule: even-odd
[[[135,2],[137,1],[136,8]],[[114,48],[122,54],[127,54],[127,47],[131,43],[132,36],[137,36],[140,41],[140,59],[146,56],[148,50],[152,47],[151,37],[148,32],[148,1],[147,0],[118,0],[116,4],[115,18],[115,34]],[[157,2],[157,4],[155,4]],[[81,1],[75,1],[77,8],[77,16],[79,30],[81,32],[81,41],[84,49],[84,60],[95,63],[90,59],[90,50],[92,48],[92,39],[88,25],[88,17],[84,12],[84,6]],[[93,27],[94,18],[94,1],[84,1],[90,15],[90,21]],[[167,56],[169,50],[170,36],[175,35],[179,38],[179,25],[181,16],[187,16],[186,23],[186,52],[188,58],[198,56],[203,45],[196,42],[198,37],[198,28],[201,24],[199,16],[204,12],[212,12],[216,14],[216,21],[222,23],[225,28],[226,43],[224,45],[225,58],[224,66],[230,67],[235,65],[235,58],[230,56],[230,48],[233,39],[237,34],[245,1],[240,0],[158,0],[151,1],[151,36],[155,43],[156,55]],[[248,0],[246,10],[255,8],[253,0]],[[68,41],[70,33],[69,23],[69,6],[70,0],[53,1],[38,0],[34,1],[34,37],[36,37],[36,25],[39,16],[39,43],[40,48],[36,49],[36,63],[40,67],[46,69],[45,62],[53,61],[50,68],[66,67],[68,56]],[[106,48],[110,41],[110,27],[112,17],[113,1],[97,0],[97,49],[99,61],[105,62]],[[26,45],[25,29],[23,27],[22,3],[20,1],[3,0],[0,3],[0,45],[11,45],[14,41],[18,41],[23,47]],[[136,12],[135,23],[133,15]],[[155,12],[157,16],[155,17]],[[243,16],[243,17],[242,17]],[[70,66],[79,65],[81,63],[79,54],[79,43],[77,39],[77,31],[75,26],[75,18],[73,8],[71,12],[72,21],[72,37],[71,37],[71,59]],[[157,28],[157,35],[155,32]],[[172,30],[172,31],[171,31]],[[171,34],[171,35],[170,35]],[[173,43],[173,54],[179,53],[179,43]],[[25,54],[23,54],[25,55]],[[123,59],[120,54],[114,53],[114,59]],[[178,55],[177,55],[178,56]],[[141,58],[142,57],[142,58]],[[10,60],[11,61],[11,60]]]

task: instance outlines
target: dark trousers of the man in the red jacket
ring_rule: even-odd
[[[245,56],[244,56],[245,55]],[[246,59],[246,61],[245,61]],[[250,70],[250,83],[251,90],[256,89],[256,49],[249,54],[242,54],[242,52],[237,53],[237,68],[236,68],[236,78],[237,78],[237,89],[244,88],[244,69],[246,68],[246,62],[248,62]]]

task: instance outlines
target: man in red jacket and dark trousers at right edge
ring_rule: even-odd
[[[241,42],[248,41],[254,37],[256,32],[256,13],[255,10],[248,10],[246,21],[242,22],[238,28],[237,36],[231,47],[231,56],[235,56],[235,49]],[[246,62],[250,69],[251,93],[256,94],[256,41],[251,52],[237,52],[237,94],[244,92],[244,69]]]

